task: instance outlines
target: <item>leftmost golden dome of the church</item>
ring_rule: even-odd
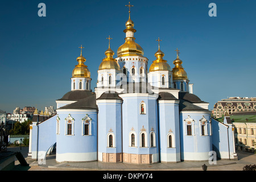
[[[77,64],[76,67],[73,69],[72,77],[73,78],[74,77],[90,78],[90,71],[87,68],[87,66],[84,64],[86,59],[84,58],[84,56],[82,56],[82,51],[81,51],[81,55],[77,57],[76,60],[77,62],[79,62],[79,64]]]

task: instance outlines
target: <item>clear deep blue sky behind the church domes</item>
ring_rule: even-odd
[[[46,17],[38,4],[46,4]],[[210,17],[209,3],[217,17]],[[96,87],[104,52],[124,43],[129,1],[15,0],[0,2],[0,109],[55,106],[71,90],[72,70],[85,49]],[[256,97],[256,1],[131,1],[136,42],[150,67],[158,42],[171,68],[180,59],[194,93],[213,105],[229,96]]]

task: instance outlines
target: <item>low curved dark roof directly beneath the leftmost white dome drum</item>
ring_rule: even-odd
[[[66,93],[62,98],[57,101],[79,101],[83,98],[92,96],[94,92],[88,90],[73,90]]]

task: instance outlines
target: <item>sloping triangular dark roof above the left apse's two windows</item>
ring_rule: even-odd
[[[59,109],[98,109],[98,106],[96,105],[96,94],[60,107]]]

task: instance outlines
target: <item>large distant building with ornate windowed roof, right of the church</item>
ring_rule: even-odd
[[[213,107],[213,117],[221,118],[225,113],[256,111],[256,97],[229,97],[218,101]]]

